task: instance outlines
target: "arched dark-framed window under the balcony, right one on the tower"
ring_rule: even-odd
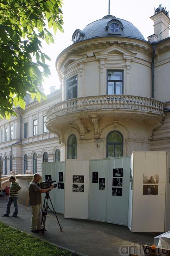
[[[106,158],[123,156],[123,136],[118,131],[109,132],[107,136]]]

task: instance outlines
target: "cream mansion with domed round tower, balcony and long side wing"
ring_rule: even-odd
[[[148,40],[112,15],[74,31],[56,60],[60,90],[0,120],[3,174],[41,173],[47,161],[170,151],[170,18],[160,5],[151,19]]]

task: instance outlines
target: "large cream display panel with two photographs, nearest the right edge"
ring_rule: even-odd
[[[165,225],[166,152],[133,152],[133,195],[129,194],[128,226],[132,232],[163,232]],[[144,183],[143,174],[156,174],[159,182]],[[155,176],[156,176],[155,175]],[[151,181],[150,181],[151,182]],[[155,181],[156,182],[156,181]],[[145,193],[143,186],[158,186],[158,195]],[[154,190],[155,191],[155,190]],[[130,214],[132,211],[132,214]],[[132,216],[130,225],[130,215]]]

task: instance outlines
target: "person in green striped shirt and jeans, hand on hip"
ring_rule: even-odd
[[[18,215],[18,204],[17,204],[18,191],[21,189],[21,186],[15,181],[14,176],[11,176],[9,178],[9,181],[11,182],[11,186],[10,186],[10,190],[9,190],[7,211],[4,215],[2,215],[2,217],[9,217],[10,207],[11,207],[12,202],[14,203],[14,208],[15,208],[15,211],[14,211],[12,217],[17,217],[17,215]]]

